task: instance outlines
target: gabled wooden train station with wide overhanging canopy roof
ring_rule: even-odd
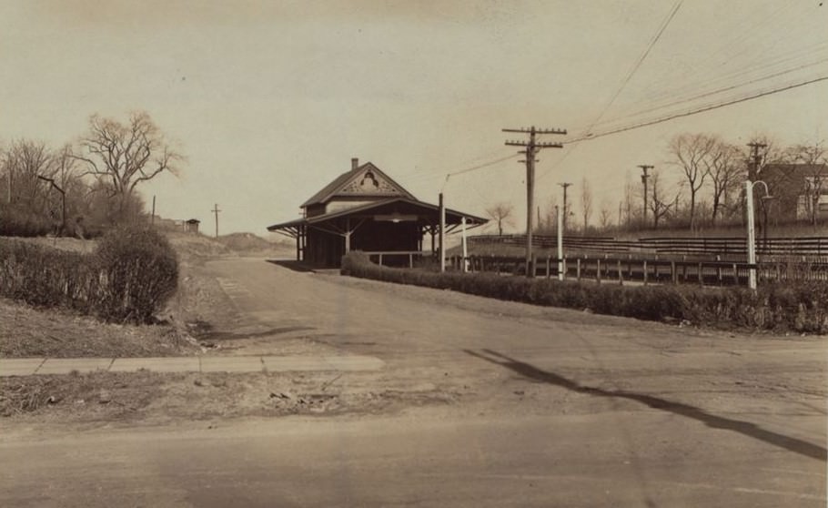
[[[296,239],[297,259],[335,268],[342,256],[361,250],[380,264],[408,266],[437,253],[439,206],[420,201],[385,172],[351,159],[351,169],[334,178],[302,205],[302,218],[268,227]],[[475,228],[487,219],[446,209],[446,233]],[[423,239],[430,237],[424,250]]]

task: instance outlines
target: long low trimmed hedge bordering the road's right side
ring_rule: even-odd
[[[756,292],[742,288],[620,286],[502,277],[493,273],[393,269],[372,263],[361,252],[348,253],[342,259],[342,273],[640,320],[688,320],[754,330],[828,332],[828,284],[819,281],[796,286],[764,285]]]

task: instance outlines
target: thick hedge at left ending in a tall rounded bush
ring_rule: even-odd
[[[99,319],[146,323],[175,292],[178,262],[149,229],[116,229],[92,254],[0,240],[0,296]]]

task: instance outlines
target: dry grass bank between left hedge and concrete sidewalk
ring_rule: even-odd
[[[0,299],[0,356],[147,357],[195,352],[171,326],[106,324],[61,310]]]

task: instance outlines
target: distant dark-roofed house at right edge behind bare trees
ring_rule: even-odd
[[[828,165],[768,164],[759,178],[774,198],[775,222],[828,218]]]

